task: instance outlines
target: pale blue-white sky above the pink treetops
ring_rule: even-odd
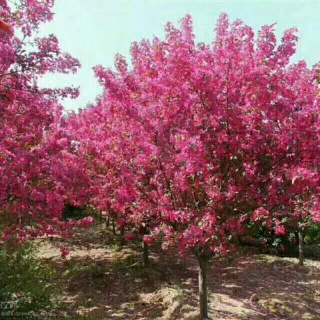
[[[312,66],[320,61],[320,0],[56,0],[53,11],[54,19],[42,25],[40,36],[54,33],[61,49],[78,58],[82,67],[75,75],[48,74],[40,85],[80,86],[78,99],[62,102],[67,111],[85,108],[102,93],[95,65],[113,67],[117,53],[129,58],[132,41],[163,38],[166,22],[177,24],[187,13],[193,17],[196,40],[206,43],[214,39],[221,12],[255,31],[276,22],[279,41],[285,29],[296,27],[299,42],[292,62],[305,60]]]

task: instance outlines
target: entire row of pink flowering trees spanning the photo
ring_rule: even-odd
[[[36,38],[54,0],[0,0],[1,239],[67,231],[66,202],[116,218],[122,237],[178,246],[199,262],[200,314],[207,267],[230,252],[246,223],[284,235],[319,214],[317,69],[289,64],[296,30],[277,46],[273,26],[253,30],[221,15],[216,38],[196,44],[191,17],[164,40],[131,46],[131,67],[95,67],[97,103],[67,120],[41,89],[46,72],[76,72],[54,35]],[[86,224],[88,220],[83,223]],[[82,223],[80,223],[82,224]],[[302,234],[302,232],[301,232]]]

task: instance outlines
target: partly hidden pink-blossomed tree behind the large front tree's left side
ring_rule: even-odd
[[[120,244],[125,240],[143,240],[143,261],[148,264],[150,230],[159,221],[154,204],[145,200],[139,168],[132,162],[138,157],[138,132],[125,113],[113,108],[106,97],[79,114],[70,115],[69,132],[77,141],[79,157],[86,162],[90,177],[90,202],[99,211],[115,218],[120,229]],[[127,119],[125,120],[126,117]],[[130,134],[129,134],[130,132]],[[145,170],[145,169],[144,169]],[[148,175],[151,177],[152,172]],[[125,228],[130,233],[125,234]]]

